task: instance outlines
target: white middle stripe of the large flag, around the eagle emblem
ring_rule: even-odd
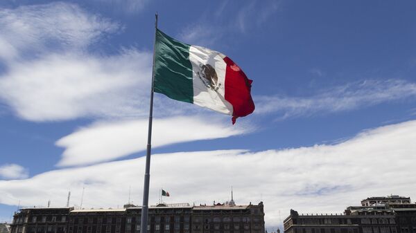
[[[232,105],[225,100],[225,64],[223,54],[208,48],[200,46],[191,46],[189,48],[189,60],[192,64],[193,73],[193,104],[212,109],[220,113],[232,115]],[[204,82],[201,66],[209,64],[214,67],[218,76],[216,90],[207,86],[207,80]],[[218,88],[218,89],[217,89]]]

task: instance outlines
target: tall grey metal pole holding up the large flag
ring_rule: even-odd
[[[157,30],[157,13],[155,15],[155,42],[153,44],[153,71],[152,84],[150,89],[150,109],[148,124],[148,144],[146,149],[146,171],[144,173],[144,189],[143,189],[143,205],[141,205],[141,225],[140,232],[147,233],[148,225],[148,203],[149,203],[149,183],[150,183],[150,152],[152,150],[152,122],[153,122],[153,81],[155,80],[155,46],[156,46],[156,30]]]

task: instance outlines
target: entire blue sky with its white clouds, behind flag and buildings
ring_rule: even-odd
[[[271,229],[291,208],[342,212],[367,196],[416,198],[415,7],[1,1],[0,220],[19,201],[62,206],[69,190],[78,205],[83,187],[86,207],[123,205],[130,186],[140,204],[155,12],[168,35],[232,57],[254,80],[257,109],[233,127],[155,94],[150,203],[161,186],[170,202],[227,201],[233,185],[239,204],[261,196]]]

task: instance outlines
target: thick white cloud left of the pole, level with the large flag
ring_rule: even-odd
[[[125,50],[98,57],[51,54],[13,63],[0,77],[0,98],[32,121],[139,115],[151,55]],[[147,97],[146,97],[147,98]]]

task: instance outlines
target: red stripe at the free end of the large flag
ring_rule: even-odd
[[[243,117],[254,111],[254,102],[250,91],[252,80],[229,57],[224,58],[227,64],[225,71],[225,100],[232,104],[232,124],[236,118]]]

